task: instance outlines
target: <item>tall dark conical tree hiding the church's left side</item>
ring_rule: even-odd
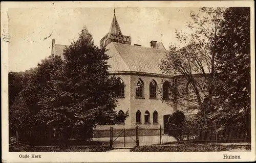
[[[83,28],[77,41],[63,52],[63,63],[50,73],[50,80],[40,95],[38,121],[57,127],[67,145],[68,130],[89,130],[96,124],[116,121],[117,79],[109,76],[105,49],[93,44],[92,35]]]

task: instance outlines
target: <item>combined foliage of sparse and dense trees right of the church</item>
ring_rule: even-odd
[[[190,14],[191,33],[176,31],[185,47],[171,45],[162,60],[162,71],[174,76],[173,96],[163,100],[183,110],[199,108],[199,125],[245,122],[250,133],[250,8],[200,10],[200,16]]]

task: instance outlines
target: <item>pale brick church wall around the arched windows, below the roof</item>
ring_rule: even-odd
[[[175,108],[170,105],[167,105],[165,102],[161,100],[160,90],[162,90],[162,83],[164,80],[170,80],[168,78],[162,77],[152,77],[152,76],[142,76],[142,75],[115,75],[116,77],[120,77],[125,85],[124,89],[124,98],[118,98],[118,106],[116,107],[116,111],[122,110],[124,113],[129,110],[129,117],[126,118],[125,124],[116,124],[112,125],[114,129],[122,129],[122,128],[135,128],[136,125],[142,128],[157,128],[160,125],[162,128],[164,127],[163,116],[173,114]],[[141,79],[144,84],[144,97],[136,98],[136,84],[138,79]],[[157,98],[150,98],[150,82],[155,80],[157,83]],[[171,79],[173,80],[173,79]],[[184,77],[177,78],[177,84],[179,86],[179,91],[184,91],[187,81]],[[177,106],[179,110],[185,110],[182,106]],[[136,112],[141,112],[141,124],[136,124]],[[144,113],[148,111],[150,112],[150,123],[145,124]],[[153,113],[154,111],[158,112],[158,124],[153,124]],[[196,112],[193,112],[195,114]],[[189,113],[187,113],[189,115]],[[97,126],[97,129],[109,129],[109,125],[101,125]]]

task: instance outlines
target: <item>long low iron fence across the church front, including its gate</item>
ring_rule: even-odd
[[[31,139],[37,144],[53,145],[62,139],[59,132],[37,132],[37,133],[19,133],[15,140],[28,142]],[[88,139],[89,138],[89,139]],[[14,139],[14,138],[11,138]],[[182,127],[172,126],[162,128],[161,125],[156,128],[136,128],[130,129],[94,129],[89,137],[81,137],[81,133],[72,132],[69,134],[70,141],[76,141],[78,144],[84,140],[101,142],[99,145],[108,144],[113,147],[134,147],[138,145],[153,144],[180,144],[184,142],[193,143],[240,143],[250,142],[250,135],[246,130],[245,124],[234,124],[218,127],[215,124],[197,127],[184,125]],[[10,143],[15,143],[10,141]],[[9,143],[9,144],[10,144]],[[76,143],[76,144],[77,144]],[[95,144],[97,145],[97,144]]]

